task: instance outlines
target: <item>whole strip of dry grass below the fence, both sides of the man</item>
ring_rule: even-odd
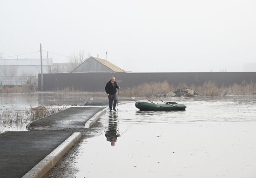
[[[169,84],[167,81],[163,82],[150,82],[144,83],[139,86],[124,88],[129,95],[134,97],[171,97],[178,89],[189,88],[197,94],[197,96],[226,96],[226,95],[251,95],[256,94],[256,83],[243,81],[241,84],[232,84],[230,86],[217,86],[216,83],[208,81],[200,86],[190,85],[186,83],[180,83],[178,86]],[[1,93],[31,93],[34,92],[28,86],[3,88]],[[73,86],[65,87],[61,90],[47,91],[51,93],[74,93],[82,94],[88,98],[101,98],[106,97],[106,93],[102,92],[86,92],[74,89]],[[43,92],[45,93],[45,92]],[[120,97],[127,97],[127,95],[120,90]]]

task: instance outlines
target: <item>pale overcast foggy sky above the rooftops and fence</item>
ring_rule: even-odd
[[[0,0],[1,56],[40,43],[67,56],[108,51],[133,72],[243,71],[256,63],[256,0]]]

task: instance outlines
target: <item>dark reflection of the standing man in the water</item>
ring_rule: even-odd
[[[109,119],[108,119],[108,131],[106,131],[105,136],[109,142],[111,142],[111,146],[115,146],[115,142],[117,140],[117,137],[120,137],[121,135],[117,131],[117,120],[116,120],[116,114],[109,113]],[[118,133],[117,133],[118,132]]]

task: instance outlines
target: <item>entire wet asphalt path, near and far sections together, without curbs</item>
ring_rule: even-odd
[[[90,101],[86,103],[88,107],[71,107],[31,125],[51,127],[50,130],[0,134],[0,178],[21,178],[74,132],[88,135],[88,129],[81,127],[107,104],[106,101]],[[65,128],[54,130],[58,127]]]

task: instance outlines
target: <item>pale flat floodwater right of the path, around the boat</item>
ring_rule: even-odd
[[[80,146],[75,177],[256,177],[255,96],[176,101],[187,110],[140,112],[127,103],[107,112],[102,134]]]

